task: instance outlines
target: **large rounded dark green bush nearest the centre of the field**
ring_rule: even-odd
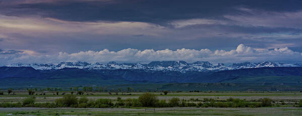
[[[144,93],[139,97],[139,101],[142,103],[143,106],[155,106],[156,102],[158,101],[155,94],[152,93]]]

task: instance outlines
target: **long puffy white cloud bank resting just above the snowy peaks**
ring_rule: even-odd
[[[177,49],[175,51],[165,50],[138,50],[123,49],[117,52],[104,49],[101,51],[83,51],[78,53],[59,52],[54,55],[41,55],[28,50],[2,50],[0,51],[0,64],[8,65],[13,63],[59,63],[62,61],[85,61],[96,62],[150,62],[150,61],[169,61],[184,60],[211,61],[222,63],[234,62],[258,62],[258,61],[291,61],[302,62],[302,53],[294,52],[287,47],[275,49],[256,49],[240,44],[236,49],[209,50],[209,49]]]

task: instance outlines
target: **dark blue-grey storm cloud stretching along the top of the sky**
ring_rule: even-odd
[[[6,2],[6,1],[5,1]],[[302,1],[54,1],[2,3],[1,11],[10,16],[40,15],[67,21],[130,21],[166,24],[173,20],[212,18],[238,14],[245,7],[274,12],[302,9]]]

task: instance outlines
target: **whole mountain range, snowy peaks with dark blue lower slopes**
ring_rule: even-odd
[[[115,62],[13,64],[0,67],[0,79],[2,80],[0,88],[140,83],[237,83],[249,84],[252,88],[253,86],[283,86],[291,90],[292,88],[288,86],[301,85],[302,66],[298,63],[273,62],[244,62],[226,66],[204,61],[194,63],[154,61],[149,64]]]

